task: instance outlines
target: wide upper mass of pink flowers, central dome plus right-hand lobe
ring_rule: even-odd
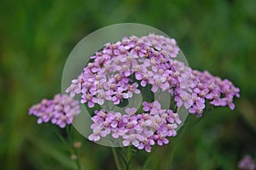
[[[207,71],[193,71],[172,59],[178,51],[174,39],[154,34],[107,43],[90,57],[92,62],[66,92],[71,96],[82,94],[81,103],[92,108],[105,100],[119,105],[122,99],[140,94],[139,87],[149,85],[153,93],[168,90],[177,107],[184,105],[196,116],[202,116],[206,101],[234,109],[233,98],[239,97],[239,88],[229,80],[213,77]]]

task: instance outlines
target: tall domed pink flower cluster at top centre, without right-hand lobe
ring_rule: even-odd
[[[71,96],[82,94],[81,103],[103,105],[105,100],[119,105],[122,99],[139,94],[140,81],[145,87],[152,85],[155,93],[159,88],[170,88],[167,78],[172,74],[172,58],[177,56],[179,48],[176,41],[162,36],[123,38],[121,42],[107,43],[101,52],[91,56],[83,73],[72,81],[67,88]]]

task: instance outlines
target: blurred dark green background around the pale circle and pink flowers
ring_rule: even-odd
[[[0,169],[75,169],[67,146],[49,124],[38,126],[28,108],[61,92],[61,73],[79,40],[103,26],[136,22],[177,39],[189,65],[228,77],[241,88],[236,110],[189,116],[183,133],[151,154],[161,169],[236,169],[256,158],[256,1],[0,1]],[[79,134],[84,169],[115,169],[111,149]],[[132,162],[134,169],[149,156]],[[149,168],[150,167],[150,168]]]

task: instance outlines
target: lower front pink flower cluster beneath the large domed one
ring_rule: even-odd
[[[91,141],[98,141],[102,137],[111,134],[113,139],[122,139],[124,146],[130,144],[139,150],[150,152],[151,145],[168,144],[166,137],[177,134],[177,124],[181,123],[177,113],[172,110],[162,110],[160,103],[143,102],[143,113],[137,113],[136,108],[127,108],[126,114],[113,111],[95,111],[96,115],[91,119],[93,133]]]

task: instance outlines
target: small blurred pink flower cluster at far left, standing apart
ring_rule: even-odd
[[[59,127],[66,127],[73,122],[74,116],[79,115],[79,101],[67,94],[56,94],[54,99],[42,99],[29,109],[29,115],[38,117],[38,124],[51,122]]]

